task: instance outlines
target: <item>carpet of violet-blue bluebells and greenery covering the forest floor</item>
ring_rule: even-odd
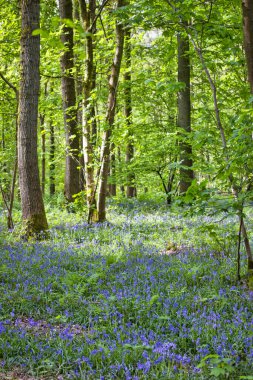
[[[236,219],[136,200],[112,203],[103,225],[49,219],[46,241],[7,240],[1,227],[1,373],[253,379],[253,292],[236,282]]]

